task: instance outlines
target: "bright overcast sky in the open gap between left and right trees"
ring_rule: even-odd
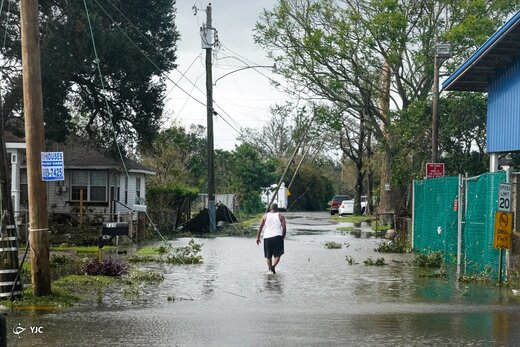
[[[263,9],[272,9],[276,3],[276,0],[211,2],[213,27],[217,29],[223,45],[221,49],[215,50],[213,81],[247,65],[273,64],[266,52],[254,44],[253,29]],[[193,14],[194,5],[198,8],[197,15]],[[208,1],[177,0],[176,24],[181,35],[177,48],[178,71],[170,74],[174,81],[180,80],[179,86],[204,104],[205,52],[201,48],[200,27],[206,22],[207,5]],[[180,79],[184,72],[189,81]],[[260,128],[270,119],[269,107],[283,103],[286,98],[271,86],[264,75],[275,77],[269,68],[259,68],[258,71],[247,69],[224,77],[214,86],[213,99],[218,105],[216,111],[237,130],[241,127]],[[172,122],[183,126],[206,126],[205,106],[172,83],[168,84],[168,91],[167,112],[170,118],[166,126]],[[214,134],[215,148],[232,150],[237,144],[237,132],[220,117],[214,118]]]

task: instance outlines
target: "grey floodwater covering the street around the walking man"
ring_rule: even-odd
[[[425,277],[412,255],[375,253],[381,239],[338,233],[324,212],[287,217],[276,275],[254,238],[196,239],[204,263],[149,267],[165,281],[139,297],[105,292],[65,311],[9,313],[8,345],[520,345],[520,297],[510,289]],[[388,265],[366,266],[368,257]],[[18,326],[27,330],[16,335]]]

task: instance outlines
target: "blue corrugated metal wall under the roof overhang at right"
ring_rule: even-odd
[[[487,151],[520,150],[520,60],[490,84]]]

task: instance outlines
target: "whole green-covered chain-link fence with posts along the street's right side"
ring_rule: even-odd
[[[494,219],[506,180],[501,171],[414,181],[413,249],[442,252],[445,262],[457,263],[458,274],[497,273]]]

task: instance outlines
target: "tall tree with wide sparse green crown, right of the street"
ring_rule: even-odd
[[[289,92],[367,116],[384,154],[385,186],[399,152],[392,121],[429,100],[436,42],[449,38],[455,52],[473,51],[516,6],[513,0],[280,0],[260,18],[255,39],[289,81]],[[405,189],[382,189],[382,210],[397,210]]]

